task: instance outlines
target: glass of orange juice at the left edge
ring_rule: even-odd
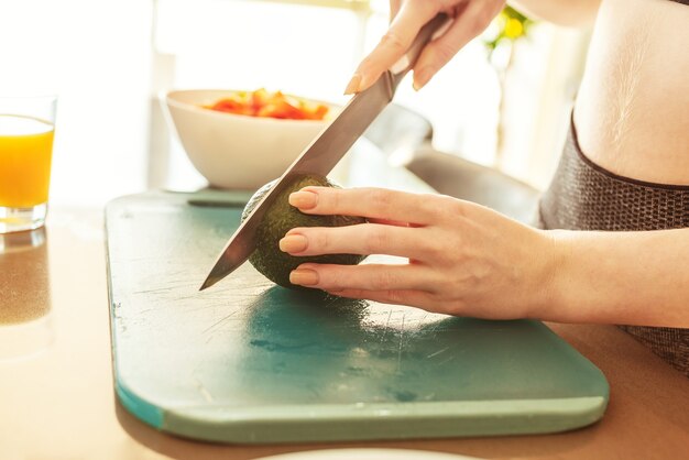
[[[0,233],[45,223],[57,98],[0,98]]]

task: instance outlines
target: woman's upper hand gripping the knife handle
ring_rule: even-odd
[[[485,30],[504,4],[505,0],[391,0],[390,29],[361,62],[344,94],[363,91],[373,85],[404,56],[428,21],[446,13],[453,21],[426,45],[414,66],[414,88],[420,89],[459,50]]]

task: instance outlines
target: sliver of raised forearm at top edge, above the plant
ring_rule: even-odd
[[[531,18],[577,26],[593,22],[601,0],[515,0],[508,3]]]

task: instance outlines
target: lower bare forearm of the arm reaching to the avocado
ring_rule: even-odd
[[[544,319],[689,328],[689,229],[553,236]]]

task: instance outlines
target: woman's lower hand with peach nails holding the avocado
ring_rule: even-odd
[[[370,223],[296,228],[281,240],[292,255],[390,254],[405,264],[303,264],[291,282],[460,316],[543,317],[557,265],[554,240],[495,211],[440,195],[378,188],[306,187],[289,202],[315,215]]]

